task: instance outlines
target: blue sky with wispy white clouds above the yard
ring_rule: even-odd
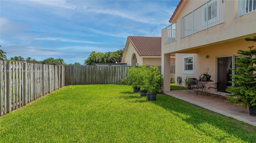
[[[161,37],[179,0],[0,0],[7,59],[84,64],[92,51],[124,49],[128,36]]]

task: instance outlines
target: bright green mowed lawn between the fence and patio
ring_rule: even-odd
[[[67,86],[0,117],[0,143],[250,143],[256,127],[127,85]]]

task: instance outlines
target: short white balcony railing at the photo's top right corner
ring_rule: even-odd
[[[256,0],[239,0],[238,16],[242,16],[256,10]]]

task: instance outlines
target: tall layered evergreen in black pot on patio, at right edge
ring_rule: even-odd
[[[256,42],[256,36],[253,38],[246,38],[246,41]],[[249,46],[248,51],[238,50],[238,54],[246,55],[236,60],[235,74],[230,74],[233,79],[230,83],[234,86],[229,86],[226,91],[227,100],[245,108],[249,108],[250,115],[256,116],[256,49],[254,46]]]

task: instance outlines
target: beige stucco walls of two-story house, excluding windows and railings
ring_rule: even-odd
[[[187,1],[174,17],[173,22],[177,21],[177,41],[165,44],[165,29],[162,29],[162,70],[168,73],[169,62],[164,59],[166,55],[176,53],[176,77],[182,76],[184,80],[187,74],[182,74],[182,56],[187,55],[185,53],[194,53],[195,73],[189,76],[198,77],[205,69],[209,69],[211,79],[216,81],[216,57],[236,55],[238,49],[247,50],[249,45],[254,44],[244,38],[256,36],[256,11],[238,17],[238,1],[225,0],[224,23],[182,38],[181,18],[202,5],[197,2],[198,0]],[[206,55],[209,55],[209,59],[206,59]],[[166,84],[164,91],[170,91],[168,76],[163,74]],[[182,85],[184,86],[184,83]]]

